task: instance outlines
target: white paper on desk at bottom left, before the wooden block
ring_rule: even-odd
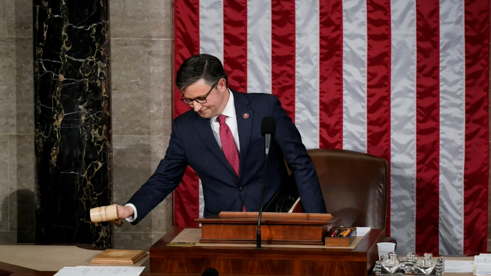
[[[54,276],[139,276],[144,266],[67,266]]]

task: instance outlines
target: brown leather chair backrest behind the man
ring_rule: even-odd
[[[387,160],[340,149],[310,149],[327,212],[343,226],[384,229],[387,221]]]

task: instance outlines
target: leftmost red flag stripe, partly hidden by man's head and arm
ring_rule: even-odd
[[[174,3],[174,77],[185,59],[199,54],[199,1],[183,0]],[[190,109],[181,101],[174,87],[174,118]],[[199,179],[188,167],[183,181],[174,190],[174,225],[197,226],[199,216]]]

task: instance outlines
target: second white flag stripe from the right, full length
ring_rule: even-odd
[[[406,254],[416,251],[416,2],[390,7],[390,235]]]

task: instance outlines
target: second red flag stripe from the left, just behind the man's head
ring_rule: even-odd
[[[247,93],[247,0],[224,1],[224,68],[230,87]]]

